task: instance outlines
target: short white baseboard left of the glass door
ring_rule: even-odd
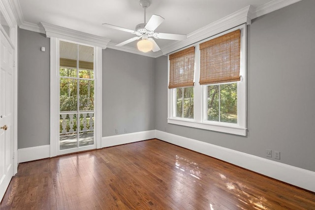
[[[18,163],[50,157],[50,145],[18,149]]]

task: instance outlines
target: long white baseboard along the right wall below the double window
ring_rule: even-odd
[[[157,130],[156,138],[315,192],[315,172]]]

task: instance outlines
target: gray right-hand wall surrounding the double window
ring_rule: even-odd
[[[167,58],[156,60],[156,128],[315,171],[315,1],[303,0],[248,26],[247,137],[167,124]],[[276,160],[274,158],[270,158]]]

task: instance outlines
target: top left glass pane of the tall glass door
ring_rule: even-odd
[[[60,41],[60,76],[77,77],[78,44]]]

